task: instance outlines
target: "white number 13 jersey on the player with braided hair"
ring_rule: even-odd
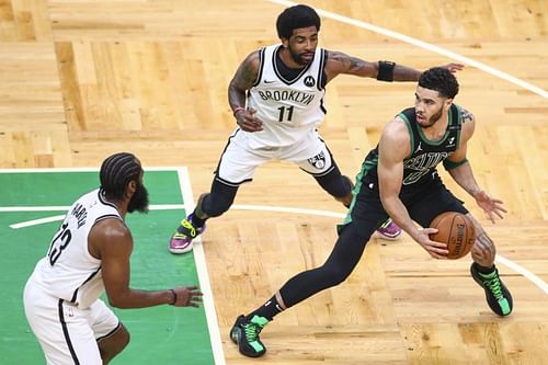
[[[116,206],[106,202],[100,190],[81,196],[65,216],[31,280],[47,294],[88,308],[104,290],[101,260],[88,251],[88,235],[95,223],[106,218],[122,220]]]

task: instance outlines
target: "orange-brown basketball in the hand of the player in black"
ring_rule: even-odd
[[[447,244],[447,259],[460,259],[470,252],[476,241],[476,229],[466,215],[458,212],[445,212],[430,224],[437,228],[437,233],[430,235],[430,239]]]

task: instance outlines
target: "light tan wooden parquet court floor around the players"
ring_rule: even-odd
[[[98,167],[127,150],[145,166],[189,167],[197,197],[209,189],[235,127],[228,82],[250,52],[277,42],[283,3],[0,0],[0,168]],[[269,353],[259,362],[548,364],[548,1],[308,3],[326,11],[320,45],[328,49],[418,69],[465,61],[456,103],[477,118],[469,159],[480,185],[509,214],[491,225],[446,182],[495,241],[515,306],[504,319],[489,311],[468,274],[469,259],[429,259],[409,238],[372,240],[344,284],[264,330]],[[383,125],[412,105],[413,92],[412,83],[353,77],[328,85],[320,133],[345,174],[357,172]],[[259,169],[236,203],[240,208],[210,220],[204,236],[231,365],[258,362],[229,341],[233,319],[294,274],[320,265],[340,221],[241,205],[344,213],[311,178],[282,162]]]

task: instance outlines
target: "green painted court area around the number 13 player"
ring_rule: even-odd
[[[44,172],[48,173],[24,170],[0,173],[0,184],[4,186],[0,206],[68,206],[99,184],[96,171]],[[151,204],[182,204],[183,195],[189,196],[189,192],[181,191],[180,186],[190,186],[190,181],[180,182],[180,171],[173,170],[147,171],[145,184],[150,192]],[[187,179],[187,175],[185,178]],[[192,192],[190,199],[192,202]],[[12,229],[9,226],[61,214],[62,210],[0,212],[0,235],[4,244],[4,254],[0,255],[3,273],[0,282],[4,290],[0,298],[0,308],[5,318],[0,328],[2,363],[44,362],[39,345],[24,317],[22,292],[36,261],[45,254],[49,239],[59,223],[45,223],[21,229]],[[180,209],[164,209],[126,217],[135,240],[132,256],[133,287],[159,289],[198,284],[195,253],[172,255],[167,250],[169,235],[174,223],[181,219],[181,215]],[[201,285],[204,285],[204,280],[199,280]],[[208,283],[206,286],[209,289]],[[213,307],[213,303],[209,307]],[[219,357],[216,354],[217,349],[214,351],[212,345],[208,330],[210,315],[206,316],[204,308],[160,306],[132,310],[114,308],[114,311],[132,333],[132,342],[112,364],[224,364],[222,353]],[[215,312],[213,316],[215,317]],[[220,339],[214,339],[214,342],[216,347],[220,345]]]

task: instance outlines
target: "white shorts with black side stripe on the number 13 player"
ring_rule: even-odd
[[[48,365],[102,365],[98,340],[114,333],[119,320],[98,299],[87,309],[55,298],[28,280],[23,294],[26,320]]]

